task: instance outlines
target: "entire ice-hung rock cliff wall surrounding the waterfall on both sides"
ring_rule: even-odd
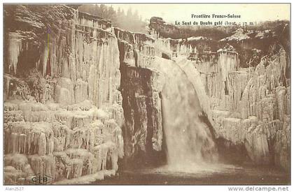
[[[159,17],[148,35],[61,5],[4,13],[6,184],[38,174],[85,183],[118,166],[166,163],[162,89],[172,68],[197,95],[197,116],[220,160],[242,154],[237,161],[289,168],[287,27],[173,39],[181,30]]]

